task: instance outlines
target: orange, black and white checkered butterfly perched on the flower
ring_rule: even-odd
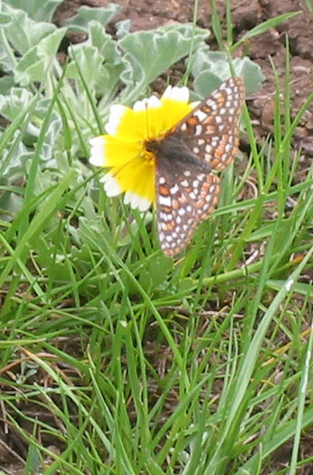
[[[219,202],[220,172],[238,150],[245,85],[232,77],[162,139],[145,147],[156,158],[157,236],[165,255],[179,254]]]

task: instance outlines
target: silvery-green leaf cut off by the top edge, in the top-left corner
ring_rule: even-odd
[[[23,10],[37,22],[50,22],[55,9],[62,2],[63,0],[4,0],[4,3]]]

